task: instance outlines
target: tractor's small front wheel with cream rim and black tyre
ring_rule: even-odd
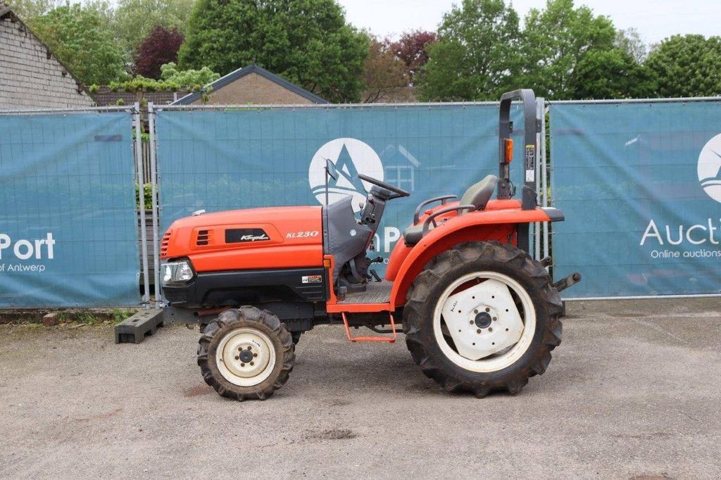
[[[251,306],[226,310],[200,337],[205,383],[231,399],[265,400],[288,380],[295,349],[278,317]]]

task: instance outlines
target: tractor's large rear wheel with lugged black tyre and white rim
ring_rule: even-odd
[[[560,344],[562,302],[548,272],[510,244],[468,242],[439,254],[414,281],[406,343],[448,391],[520,391]]]

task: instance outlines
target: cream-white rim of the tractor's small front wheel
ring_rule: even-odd
[[[230,383],[255,386],[268,378],[275,368],[273,342],[257,329],[234,329],[218,344],[216,365]]]

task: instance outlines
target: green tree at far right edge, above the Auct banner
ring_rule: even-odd
[[[674,35],[648,55],[645,65],[658,75],[660,97],[721,94],[721,37]]]

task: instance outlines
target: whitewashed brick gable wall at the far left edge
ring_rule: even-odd
[[[0,19],[0,110],[94,105],[78,90],[76,79],[17,17]]]

